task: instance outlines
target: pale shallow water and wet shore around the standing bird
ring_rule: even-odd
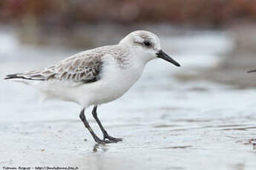
[[[24,47],[14,35],[1,33],[0,41],[3,36],[1,77],[45,67],[76,53]],[[249,142],[256,137],[256,90],[204,80],[185,83],[173,76],[198,72],[191,72],[191,67],[214,67],[221,62],[220,53],[232,50],[232,43],[226,33],[218,32],[163,38],[163,49],[173,52],[183,67],[151,61],[127,94],[99,107],[108,133],[125,139],[105,146],[93,142],[79,120],[76,104],[39,103],[36,90],[1,80],[1,166],[256,169],[256,150]],[[172,44],[172,50],[167,44]],[[88,118],[101,135],[91,114]]]

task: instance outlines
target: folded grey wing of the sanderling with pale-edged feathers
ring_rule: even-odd
[[[99,80],[102,55],[80,52],[59,63],[41,70],[10,75],[7,78],[23,78],[35,81],[70,81],[73,83],[92,83]],[[7,75],[8,76],[8,75]]]

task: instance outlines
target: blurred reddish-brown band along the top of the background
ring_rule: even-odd
[[[1,0],[0,19],[70,27],[70,24],[114,22],[209,25],[256,21],[255,0]]]

